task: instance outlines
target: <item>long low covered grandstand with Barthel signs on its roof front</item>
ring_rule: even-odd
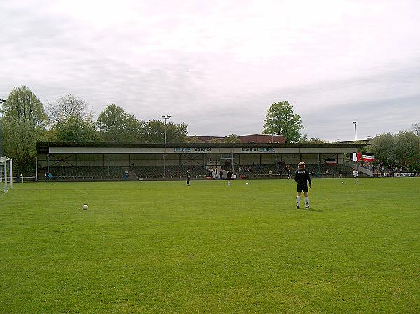
[[[217,177],[233,169],[238,178],[283,178],[298,162],[318,176],[334,176],[357,144],[286,143],[52,143],[38,142],[37,178],[60,180],[170,180]],[[210,169],[210,170],[209,170]],[[327,171],[328,170],[328,171]],[[271,175],[269,174],[271,173]]]

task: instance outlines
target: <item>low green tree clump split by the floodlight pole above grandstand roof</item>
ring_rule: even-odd
[[[146,141],[148,143],[165,143],[165,122],[160,120],[149,120],[144,125]],[[188,142],[187,124],[166,125],[167,143],[186,143]]]

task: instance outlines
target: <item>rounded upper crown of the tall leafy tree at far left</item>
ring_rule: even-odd
[[[28,120],[34,125],[48,123],[43,104],[35,93],[25,85],[15,87],[9,94],[6,103],[3,104],[6,116],[14,117],[19,121]]]

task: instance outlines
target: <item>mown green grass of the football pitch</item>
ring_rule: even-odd
[[[340,181],[15,185],[0,313],[420,313],[420,180]]]

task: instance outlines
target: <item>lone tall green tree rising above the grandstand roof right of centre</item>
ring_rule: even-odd
[[[302,137],[302,119],[293,112],[293,106],[288,101],[272,104],[264,121],[262,134],[283,135],[286,143],[297,143]]]

